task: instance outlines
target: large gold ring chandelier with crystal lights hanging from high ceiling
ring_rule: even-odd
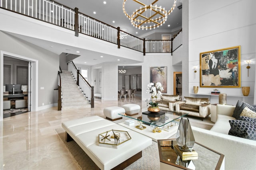
[[[126,1],[127,0],[124,0],[123,2],[124,14],[127,18],[129,18],[134,27],[138,29],[142,28],[142,30],[148,30],[152,28],[155,29],[156,27],[159,27],[159,25],[162,26],[162,24],[165,23],[165,21],[167,20],[167,16],[170,15],[170,13],[174,10],[174,7],[176,6],[176,0],[174,0],[172,8],[167,11],[165,10],[165,8],[162,8],[162,6],[157,6],[156,2],[158,0],[154,0],[154,2],[152,3],[149,2],[149,4],[144,4],[138,0],[133,0],[141,6],[139,7],[139,9],[136,9],[134,12],[132,12],[131,15],[129,15],[125,9]]]

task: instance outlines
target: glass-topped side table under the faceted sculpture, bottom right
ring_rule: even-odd
[[[216,152],[208,147],[195,143],[193,150],[198,153],[195,159],[181,160],[174,150],[176,139],[157,140],[160,158],[160,170],[185,169],[185,170],[224,170],[224,154]]]

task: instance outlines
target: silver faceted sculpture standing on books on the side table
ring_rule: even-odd
[[[180,125],[176,134],[176,141],[180,150],[186,152],[192,151],[195,143],[195,138],[187,117],[182,117],[180,120]]]

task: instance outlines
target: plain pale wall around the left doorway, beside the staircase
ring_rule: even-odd
[[[2,31],[0,39],[0,51],[38,60],[38,107],[43,103],[44,108],[47,105],[52,107],[54,89],[58,87],[59,56]]]

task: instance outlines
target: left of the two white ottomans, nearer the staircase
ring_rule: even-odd
[[[118,115],[118,113],[125,113],[125,110],[123,107],[112,106],[104,108],[103,113],[106,116],[106,119],[116,121],[122,119],[122,116]]]

